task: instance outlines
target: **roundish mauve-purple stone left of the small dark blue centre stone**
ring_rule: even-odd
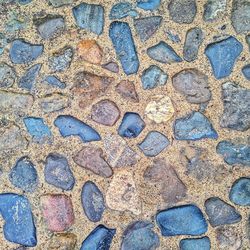
[[[119,108],[108,99],[99,101],[91,108],[91,119],[105,126],[113,126],[119,117]]]

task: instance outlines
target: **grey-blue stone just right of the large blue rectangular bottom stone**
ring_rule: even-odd
[[[218,197],[211,197],[205,201],[205,210],[212,227],[234,224],[241,221],[238,211]]]

